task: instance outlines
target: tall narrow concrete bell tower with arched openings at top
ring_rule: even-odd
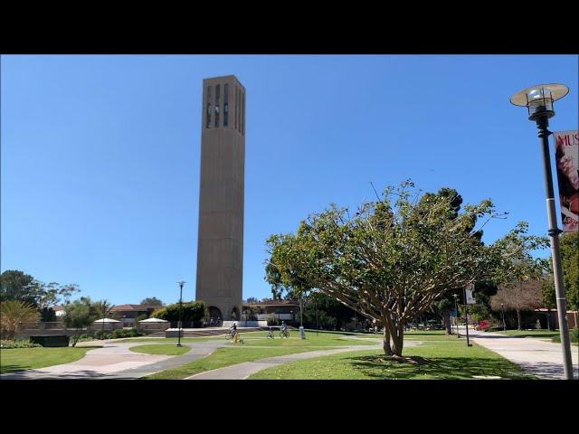
[[[240,319],[245,88],[233,75],[203,80],[195,299],[210,316]]]

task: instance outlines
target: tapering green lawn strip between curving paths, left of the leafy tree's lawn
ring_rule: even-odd
[[[274,357],[276,355],[304,353],[305,348],[252,348],[251,346],[236,346],[232,348],[218,348],[213,354],[192,363],[184,364],[174,369],[167,369],[161,373],[154,373],[144,377],[145,380],[182,380],[195,373],[204,373],[212,369],[223,368],[232,364],[252,362],[253,360]]]

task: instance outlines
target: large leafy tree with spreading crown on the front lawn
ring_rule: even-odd
[[[403,325],[434,300],[478,281],[502,282],[517,259],[530,259],[530,250],[546,245],[527,235],[523,222],[483,245],[480,229],[495,215],[490,200],[457,214],[448,194],[421,197],[407,181],[363,203],[355,215],[332,204],[301,222],[295,234],[271,236],[268,267],[283,286],[315,288],[379,322],[384,353],[401,356]]]

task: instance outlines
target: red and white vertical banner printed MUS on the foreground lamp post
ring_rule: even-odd
[[[563,231],[579,231],[579,131],[557,131],[553,140]]]

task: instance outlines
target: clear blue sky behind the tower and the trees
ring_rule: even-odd
[[[247,90],[243,297],[270,297],[265,239],[328,203],[412,178],[490,197],[546,234],[536,127],[512,93],[565,83],[577,56],[2,56],[1,269],[114,304],[195,297],[202,80]],[[541,256],[548,255],[548,250]]]

